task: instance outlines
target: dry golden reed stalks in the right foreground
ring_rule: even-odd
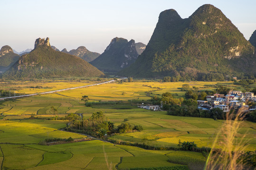
[[[234,117],[235,119],[232,120]],[[245,114],[241,111],[238,111],[237,114],[227,113],[226,120],[212,145],[204,170],[244,169],[242,154],[246,145],[244,139],[247,133],[239,138],[236,137],[244,118]],[[222,149],[217,149],[217,145],[221,145]]]

